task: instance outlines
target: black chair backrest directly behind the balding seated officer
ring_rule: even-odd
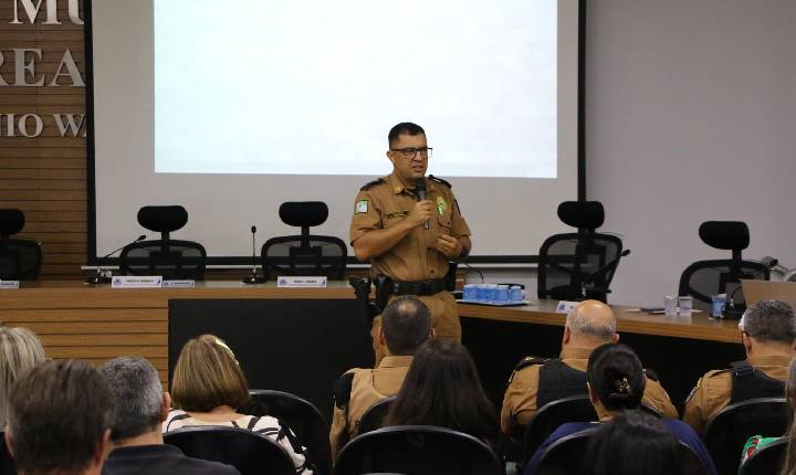
[[[562,424],[567,422],[590,422],[597,420],[597,412],[588,395],[572,395],[543,405],[525,426],[523,460],[530,460],[542,443]]]

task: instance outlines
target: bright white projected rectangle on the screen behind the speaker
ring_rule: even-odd
[[[157,173],[558,177],[556,0],[155,0]]]

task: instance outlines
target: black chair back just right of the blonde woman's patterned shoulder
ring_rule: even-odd
[[[249,403],[240,412],[250,415],[270,415],[284,422],[305,445],[306,455],[314,465],[314,473],[332,473],[329,425],[321,411],[306,399],[290,392],[252,389]]]

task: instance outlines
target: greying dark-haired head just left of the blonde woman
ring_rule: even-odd
[[[160,430],[163,388],[155,368],[144,358],[116,358],[100,372],[114,393],[114,442]]]

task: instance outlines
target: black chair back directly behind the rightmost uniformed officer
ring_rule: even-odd
[[[736,473],[748,437],[778,437],[786,431],[785,398],[757,398],[724,408],[708,423],[703,439],[719,473]]]

